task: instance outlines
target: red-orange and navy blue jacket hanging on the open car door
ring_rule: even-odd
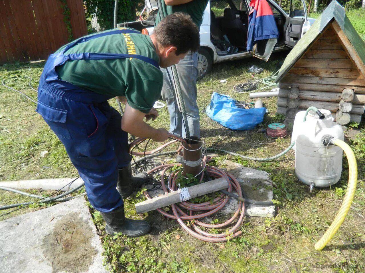
[[[252,0],[253,9],[249,15],[249,29],[247,34],[247,51],[252,50],[259,40],[279,37],[274,14],[266,0]]]

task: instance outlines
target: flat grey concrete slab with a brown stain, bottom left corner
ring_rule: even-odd
[[[0,222],[0,272],[107,273],[83,197]]]

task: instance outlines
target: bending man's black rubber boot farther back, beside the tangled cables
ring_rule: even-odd
[[[131,164],[118,170],[117,190],[123,199],[127,198],[132,191],[147,181],[147,173],[140,173],[132,176]]]

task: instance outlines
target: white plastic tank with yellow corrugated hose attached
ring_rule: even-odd
[[[324,119],[319,119],[315,111],[309,111],[305,122],[303,117],[306,111],[298,112],[292,134],[292,142],[296,142],[295,174],[311,189],[337,183],[342,172],[342,149],[323,144],[326,136],[343,140],[342,127],[334,122],[330,111],[320,111]]]

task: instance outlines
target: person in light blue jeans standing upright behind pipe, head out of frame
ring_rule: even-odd
[[[197,28],[200,28],[203,21],[203,13],[209,0],[161,0],[164,15],[174,12],[184,12],[191,16]],[[155,25],[160,23],[160,12],[157,13]],[[185,111],[187,115],[187,126],[190,135],[200,138],[200,118],[199,108],[196,103],[197,90],[196,80],[198,77],[198,52],[189,51],[185,58],[176,65],[180,87],[183,94]],[[161,69],[164,74],[164,86],[162,87],[162,98],[166,101],[170,113],[170,133],[186,137],[183,115],[178,109],[176,94],[173,83],[173,73],[171,67]]]

